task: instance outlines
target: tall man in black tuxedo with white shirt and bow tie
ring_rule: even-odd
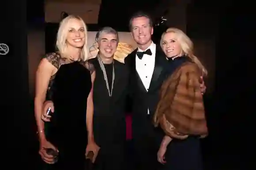
[[[129,26],[138,45],[124,60],[130,70],[135,166],[136,170],[156,170],[159,166],[157,152],[164,134],[160,128],[154,128],[152,117],[165,80],[164,66],[167,61],[162,49],[151,40],[153,23],[147,14],[134,14]],[[201,91],[204,90],[203,85]]]

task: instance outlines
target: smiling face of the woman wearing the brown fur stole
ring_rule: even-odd
[[[161,42],[161,47],[168,58],[183,54],[181,43],[178,42],[176,33],[166,33]]]

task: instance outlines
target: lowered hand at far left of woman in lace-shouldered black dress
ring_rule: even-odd
[[[40,149],[39,149],[39,155],[41,156],[41,159],[48,164],[53,164],[54,163],[54,157],[52,155],[48,155],[46,153],[47,148],[52,148],[53,150],[58,151],[58,149],[53,146],[49,141],[47,140],[42,140],[40,142]]]

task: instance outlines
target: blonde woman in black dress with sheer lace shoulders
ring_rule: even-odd
[[[55,53],[46,54],[36,73],[35,118],[39,154],[50,170],[83,170],[88,151],[98,152],[93,135],[94,67],[87,61],[87,28],[80,17],[60,23]],[[51,122],[41,120],[46,100],[53,101]],[[46,153],[59,152],[58,161]]]

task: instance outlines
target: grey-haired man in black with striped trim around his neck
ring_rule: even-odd
[[[114,60],[118,34],[110,27],[96,35],[98,55],[94,65],[94,140],[101,147],[95,170],[124,170],[125,103],[128,88],[127,67]]]

